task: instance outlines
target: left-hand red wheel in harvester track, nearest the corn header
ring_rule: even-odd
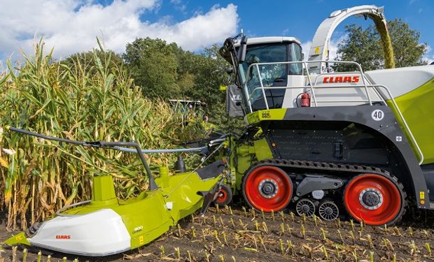
[[[248,202],[257,210],[279,211],[288,205],[293,188],[290,178],[280,168],[260,166],[255,168],[244,185]]]

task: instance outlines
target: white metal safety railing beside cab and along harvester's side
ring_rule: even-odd
[[[350,64],[350,65],[356,66],[358,68],[358,71],[315,74],[315,76],[316,76],[315,81],[312,82],[312,75],[309,73],[309,68],[308,68],[307,64],[318,63],[318,62],[324,62],[324,63],[328,63],[328,64]],[[302,64],[302,75],[304,75],[304,72],[306,73],[306,78],[307,78],[307,82],[308,82],[307,85],[290,86],[290,87],[264,87],[259,66],[279,65],[279,64],[285,64],[285,65],[286,64],[288,64],[288,65],[290,65],[290,64]],[[258,73],[258,79],[259,79],[260,86],[253,88],[251,90],[251,92],[249,92],[249,89],[247,87],[247,83],[248,83],[248,80],[250,78],[250,75],[252,75],[253,68],[255,68],[256,72]],[[395,99],[393,99],[393,96],[392,96],[390,90],[388,89],[388,87],[386,87],[384,85],[370,85],[370,84],[368,84],[367,78],[365,77],[365,74],[363,73],[363,69],[360,66],[360,64],[358,64],[354,61],[286,61],[286,62],[272,62],[272,63],[256,63],[256,64],[251,64],[250,66],[248,66],[246,73],[248,75],[248,78],[246,78],[246,82],[244,82],[243,89],[244,89],[244,93],[246,94],[246,103],[248,106],[248,110],[250,112],[253,112],[252,100],[257,99],[255,96],[255,93],[257,93],[257,92],[261,92],[263,101],[265,103],[265,108],[267,110],[269,109],[269,105],[268,105],[268,101],[267,101],[267,94],[265,93],[265,90],[267,90],[267,89],[269,89],[269,90],[302,89],[302,88],[309,89],[311,91],[312,101],[313,101],[315,107],[318,107],[318,103],[346,102],[346,101],[320,101],[320,102],[318,102],[316,99],[316,96],[315,96],[315,89],[318,89],[318,88],[320,88],[320,89],[363,88],[363,89],[365,89],[367,100],[363,100],[363,101],[351,100],[351,101],[347,101],[347,102],[369,103],[369,105],[372,105],[372,98],[370,96],[369,89],[374,90],[374,93],[377,94],[377,96],[381,99],[381,102],[386,104],[387,98],[384,99],[384,97],[381,96],[379,94],[379,91],[378,91],[378,88],[384,89],[386,91],[386,94],[390,98],[388,100],[391,101],[393,108],[396,110],[396,112],[398,112],[398,117],[400,118],[402,125],[404,126],[405,130],[407,131],[409,138],[412,140],[412,143],[413,143],[414,147],[416,148],[417,153],[419,154],[419,157],[420,157],[419,164],[423,163],[423,153],[422,153],[419,145],[417,144],[416,139],[414,138],[412,131],[409,129],[409,126],[407,125],[407,122],[405,121],[405,118],[402,115],[402,112],[401,112],[400,108],[398,107],[398,104],[395,102]],[[317,85],[317,80],[321,75],[332,75],[332,74],[342,74],[342,73],[343,74],[345,74],[345,73],[358,73],[358,74],[360,74],[363,84],[362,85]]]

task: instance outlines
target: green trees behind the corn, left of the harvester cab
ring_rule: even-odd
[[[213,45],[195,54],[175,43],[137,38],[127,44],[123,58],[145,96],[205,102],[210,121],[228,130],[233,120],[225,112],[225,93],[219,87],[229,85],[230,76],[225,73],[228,63],[218,54],[218,48]]]

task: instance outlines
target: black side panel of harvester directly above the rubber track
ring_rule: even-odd
[[[348,122],[275,122],[267,138],[274,158],[388,166],[381,139]]]

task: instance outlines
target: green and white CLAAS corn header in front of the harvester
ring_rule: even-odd
[[[113,149],[133,147],[144,164],[150,187],[127,201],[116,197],[111,175],[94,176],[92,199],[64,207],[56,216],[5,241],[7,245],[31,245],[80,256],[107,256],[135,249],[160,237],[179,219],[197,210],[204,214],[221,190],[222,160],[195,172],[169,176],[165,167],[154,180],[138,143],[85,142],[54,138],[14,127],[10,131],[85,147]],[[146,212],[152,210],[152,212]]]

